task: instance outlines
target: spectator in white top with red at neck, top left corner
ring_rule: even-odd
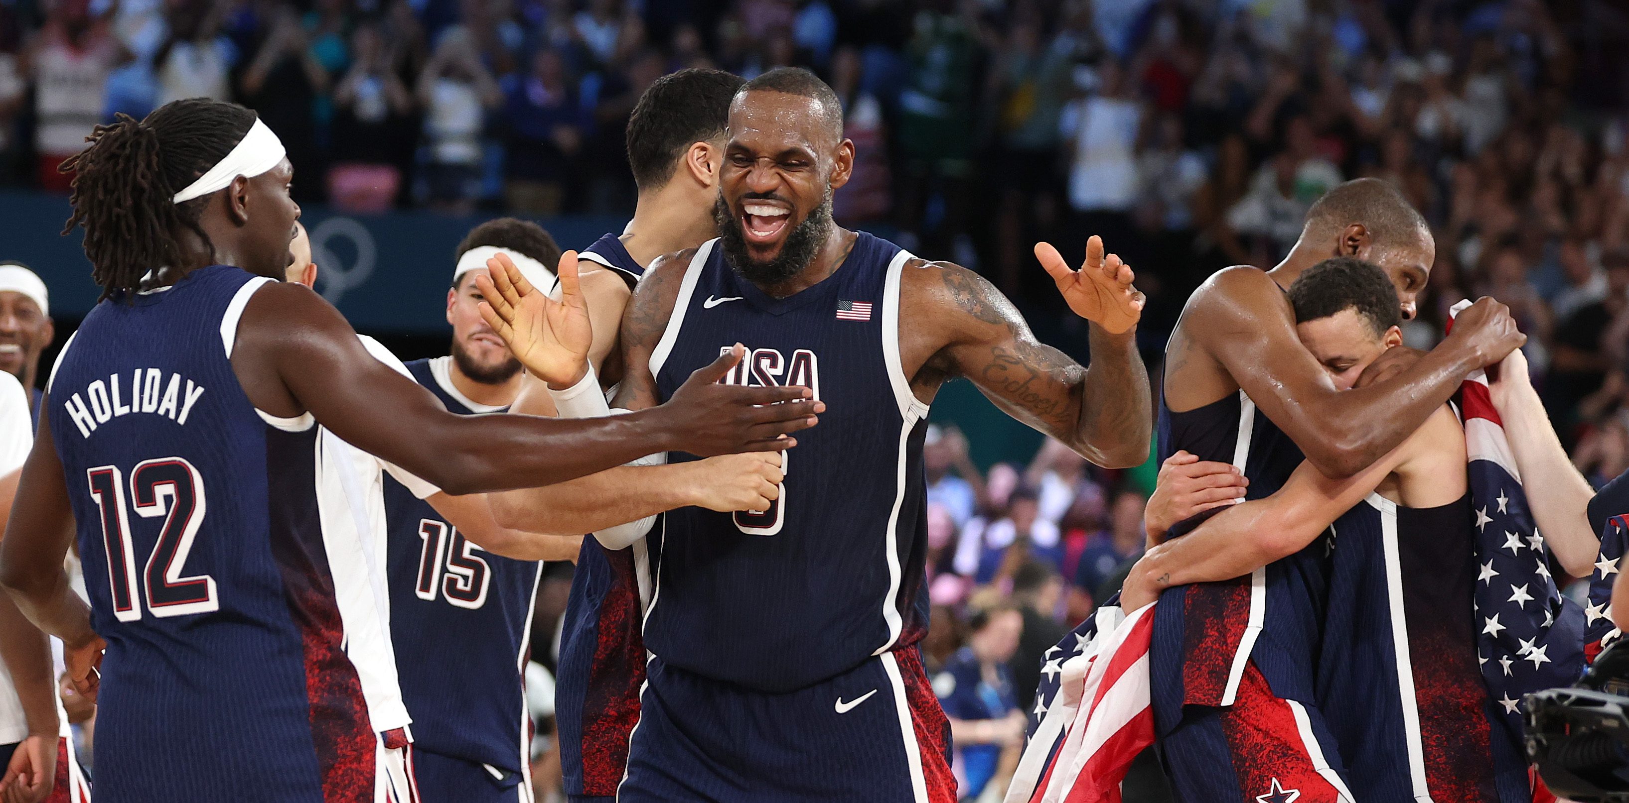
[[[57,173],[57,165],[85,148],[85,137],[101,122],[108,73],[122,59],[106,23],[91,15],[90,0],[59,0],[49,7],[28,55],[41,189],[68,191],[72,176]]]

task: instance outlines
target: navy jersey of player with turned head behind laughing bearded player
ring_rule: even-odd
[[[616,235],[601,236],[580,257],[629,283],[645,274]],[[639,722],[639,687],[645,682],[639,629],[650,598],[652,541],[606,549],[588,536],[577,555],[554,686],[560,774],[573,796],[616,796],[627,770],[627,738]]]

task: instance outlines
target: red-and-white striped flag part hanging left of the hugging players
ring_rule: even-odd
[[[1098,609],[1096,634],[1062,665],[1062,686],[1018,761],[1005,803],[1121,801],[1126,770],[1153,744],[1148,643],[1155,604],[1131,616]]]

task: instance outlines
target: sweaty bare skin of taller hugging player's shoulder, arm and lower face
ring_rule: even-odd
[[[1243,389],[1318,471],[1357,474],[1419,428],[1471,370],[1504,358],[1525,337],[1504,305],[1482,298],[1424,360],[1390,381],[1341,393],[1297,339],[1284,288],[1318,261],[1357,256],[1386,270],[1404,316],[1412,318],[1434,252],[1424,231],[1417,248],[1380,249],[1362,223],[1328,238],[1308,223],[1279,267],[1241,265],[1212,275],[1188,300],[1171,334],[1166,406],[1192,410]]]

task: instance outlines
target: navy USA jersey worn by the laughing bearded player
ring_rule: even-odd
[[[788,298],[741,279],[717,239],[684,274],[650,358],[663,401],[740,342],[725,383],[806,386],[826,412],[797,433],[767,511],[666,513],[645,645],[670,665],[785,692],[927,630],[927,404],[899,363],[911,254],[857,238],[831,277]]]

